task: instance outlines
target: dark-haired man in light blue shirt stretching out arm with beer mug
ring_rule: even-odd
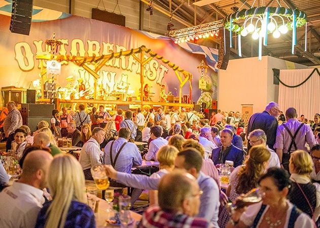
[[[176,169],[186,170],[197,179],[202,195],[200,196],[200,210],[196,217],[206,218],[214,227],[218,225],[220,190],[216,181],[203,174],[202,157],[200,152],[188,148],[177,154],[174,160]],[[139,189],[157,190],[160,178],[150,178],[146,175],[128,174],[115,171],[112,166],[105,166],[105,170],[111,178],[117,179],[126,186]]]

